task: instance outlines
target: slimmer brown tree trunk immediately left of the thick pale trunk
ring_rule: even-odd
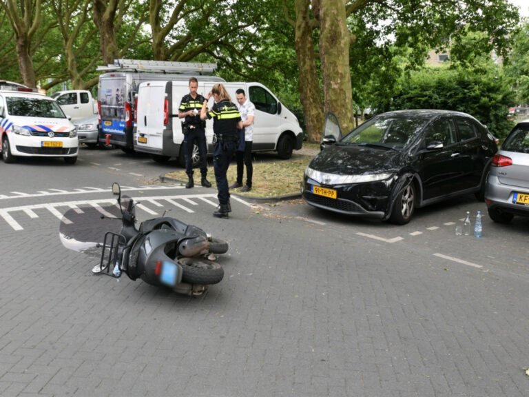
[[[309,142],[319,142],[322,136],[324,112],[316,70],[310,18],[310,0],[295,1],[295,54],[300,74],[300,99],[303,106]]]

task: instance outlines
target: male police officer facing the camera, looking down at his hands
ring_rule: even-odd
[[[178,118],[185,119],[182,123],[184,134],[185,153],[185,173],[188,181],[185,185],[187,189],[194,186],[193,181],[193,145],[196,140],[198,155],[200,156],[200,174],[202,179],[200,184],[204,187],[211,187],[207,176],[207,145],[206,145],[206,122],[200,119],[200,110],[205,101],[204,96],[198,94],[198,80],[195,77],[189,79],[189,94],[183,96],[178,108]]]

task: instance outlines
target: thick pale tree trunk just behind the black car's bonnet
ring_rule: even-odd
[[[338,116],[345,134],[353,128],[353,99],[351,72],[349,70],[349,46],[351,32],[347,28],[344,0],[320,0],[320,61],[325,112]]]

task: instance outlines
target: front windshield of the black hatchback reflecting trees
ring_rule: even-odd
[[[375,116],[344,136],[340,143],[375,144],[380,147],[402,149],[415,139],[430,119],[431,115]]]

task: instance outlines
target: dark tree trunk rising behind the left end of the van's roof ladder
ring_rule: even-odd
[[[99,31],[103,65],[114,63],[117,58],[114,18],[118,1],[94,0],[93,19]]]

